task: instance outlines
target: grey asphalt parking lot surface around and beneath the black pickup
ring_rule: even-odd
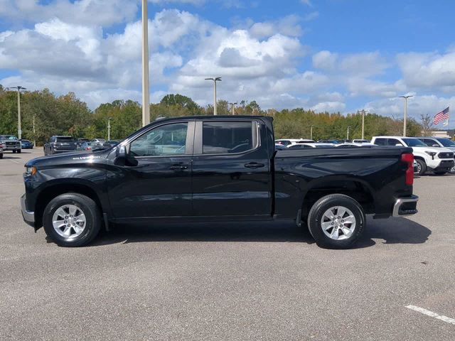
[[[455,175],[415,179],[419,214],[369,220],[356,249],[277,223],[117,227],[65,249],[22,221],[41,155],[0,160],[0,340],[455,340]]]

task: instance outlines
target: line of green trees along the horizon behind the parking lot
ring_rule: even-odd
[[[228,101],[217,103],[218,114],[231,114]],[[181,94],[166,94],[161,102],[150,104],[150,120],[159,117],[211,115],[213,105],[201,107],[193,99]],[[242,100],[235,107],[238,115],[264,115],[274,118],[275,137],[309,138],[313,126],[313,139],[360,139],[362,117],[359,112],[341,114],[309,109],[261,109],[255,101]],[[43,144],[53,135],[107,138],[107,120],[111,118],[111,139],[124,139],[141,126],[141,104],[118,99],[100,104],[90,110],[73,92],[57,96],[48,89],[21,92],[21,126],[23,139]],[[402,119],[365,114],[365,138],[377,135],[401,135]],[[33,133],[34,125],[34,133]],[[422,124],[410,118],[408,136],[419,136]],[[17,134],[17,92],[6,91],[0,85],[0,134]]]

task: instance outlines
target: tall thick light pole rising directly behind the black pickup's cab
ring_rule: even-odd
[[[142,126],[150,123],[149,14],[142,0]]]

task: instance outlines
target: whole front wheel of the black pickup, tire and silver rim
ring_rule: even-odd
[[[100,232],[102,217],[95,201],[79,193],[58,195],[43,212],[45,233],[60,247],[82,247]]]

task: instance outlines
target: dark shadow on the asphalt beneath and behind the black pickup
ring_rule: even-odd
[[[405,218],[370,220],[363,237],[355,249],[372,247],[374,239],[384,244],[422,244],[432,232],[421,224]],[[110,232],[103,232],[92,247],[108,244],[141,242],[294,242],[314,244],[306,227],[296,227],[293,222],[222,222],[116,225]],[[378,241],[380,242],[380,241]]]

